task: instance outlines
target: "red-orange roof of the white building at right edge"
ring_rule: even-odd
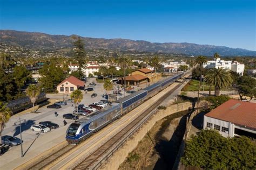
[[[256,130],[256,103],[228,100],[205,116]]]

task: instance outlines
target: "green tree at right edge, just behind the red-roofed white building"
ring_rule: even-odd
[[[240,100],[242,100],[242,96],[249,96],[252,100],[253,96],[256,97],[256,80],[250,76],[241,76],[237,80],[237,89]]]

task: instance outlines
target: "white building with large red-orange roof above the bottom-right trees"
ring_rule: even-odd
[[[256,137],[256,103],[228,100],[204,115],[204,129],[215,129],[224,137]]]

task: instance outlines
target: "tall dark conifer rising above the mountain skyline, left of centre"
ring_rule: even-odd
[[[73,42],[73,45],[75,46],[75,54],[74,54],[74,59],[77,61],[79,68],[78,68],[78,73],[80,75],[79,79],[83,77],[83,71],[82,69],[85,68],[86,65],[86,53],[85,53],[85,48],[84,48],[84,41],[78,37],[75,42]]]

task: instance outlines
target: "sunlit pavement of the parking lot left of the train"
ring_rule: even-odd
[[[87,88],[86,83],[86,88]],[[103,100],[103,94],[105,94],[105,90],[103,89],[103,83],[96,83],[96,86],[93,87],[94,91],[89,91],[85,93],[83,91],[83,100],[80,104],[85,104],[86,106],[92,104],[94,102],[98,102]],[[96,97],[91,97],[92,93],[97,93]],[[113,91],[110,91],[113,93]],[[127,94],[128,95],[128,94]],[[62,101],[64,99],[67,100],[70,98],[70,94],[47,94],[46,97],[50,98],[53,101]],[[122,97],[122,96],[120,96]],[[37,110],[38,113],[26,112],[25,114],[16,114],[11,117],[10,121],[6,124],[4,131],[2,132],[2,136],[9,135],[20,138],[20,130],[19,130],[19,118],[21,118],[21,129],[22,129],[22,140],[23,140],[23,153],[25,153],[24,159],[29,159],[29,157],[33,157],[52,146],[57,145],[61,141],[65,139],[65,131],[68,129],[70,123],[73,122],[71,119],[65,119],[68,123],[64,126],[64,114],[71,114],[75,107],[72,106],[72,103],[68,103],[67,105],[63,105],[60,109],[48,109],[45,107],[39,108]],[[58,113],[58,116],[55,116],[55,111]],[[79,116],[83,117],[83,116]],[[32,132],[30,130],[31,125],[38,124],[42,121],[51,121],[53,123],[57,123],[59,125],[58,129],[53,129],[48,133],[38,133],[36,131]],[[12,164],[12,161],[21,157],[21,146],[10,147],[7,152],[5,152],[0,157],[0,168],[6,164]],[[17,164],[18,162],[16,162]],[[4,166],[6,168],[6,166]]]

